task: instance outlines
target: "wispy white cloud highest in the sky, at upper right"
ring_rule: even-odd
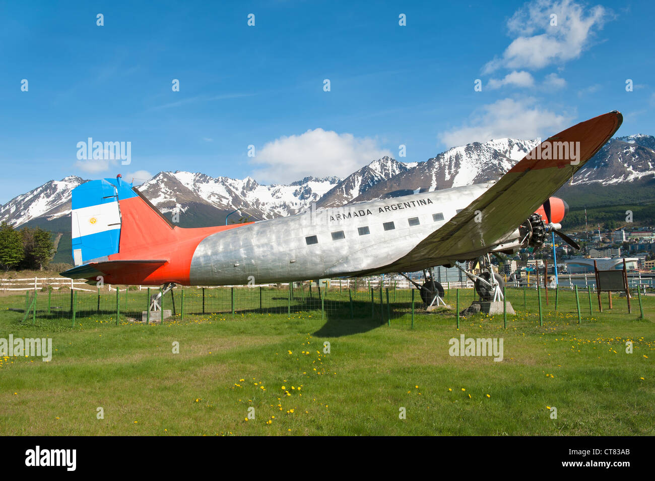
[[[557,15],[557,26],[550,24],[552,14]],[[491,73],[501,67],[540,69],[578,58],[608,16],[610,12],[601,5],[585,9],[571,0],[527,3],[507,22],[514,40],[500,58],[483,67],[483,72]]]

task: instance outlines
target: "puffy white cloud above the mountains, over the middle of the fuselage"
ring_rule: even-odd
[[[304,134],[282,136],[265,144],[255,153],[259,165],[254,176],[263,182],[289,183],[306,176],[345,177],[384,155],[377,139],[337,134],[316,128]]]

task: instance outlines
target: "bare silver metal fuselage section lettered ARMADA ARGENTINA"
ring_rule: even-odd
[[[190,284],[262,284],[375,271],[405,256],[491,185],[310,209],[221,231],[198,244]],[[360,233],[360,227],[369,233]],[[316,242],[308,244],[312,236]]]

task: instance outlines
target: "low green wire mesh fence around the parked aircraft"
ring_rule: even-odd
[[[359,279],[335,281],[323,285],[315,282],[293,282],[274,286],[202,287],[176,286],[159,300],[160,309],[151,308],[151,299],[162,292],[160,288],[136,286],[112,286],[111,289],[70,290],[68,288],[27,291],[24,299],[13,296],[14,311],[22,311],[22,322],[70,322],[76,319],[94,318],[96,322],[145,322],[157,323],[185,318],[203,318],[209,315],[279,314],[316,312],[321,317],[370,318],[391,324],[403,319],[413,324],[416,315],[426,315],[428,309],[419,290],[397,282],[374,282]],[[434,311],[440,318],[470,317],[464,309],[479,302],[474,288],[466,283],[445,285],[443,297],[434,303]],[[523,286],[504,288],[505,298],[517,318],[542,323],[544,318],[567,317],[572,320],[593,318],[601,312],[612,315],[630,315],[643,318],[644,296],[632,292],[625,294],[604,292],[600,299],[588,288]],[[645,298],[644,298],[645,299]],[[507,314],[501,315],[506,319]],[[516,320],[517,318],[512,318]],[[507,322],[505,320],[505,322]]]

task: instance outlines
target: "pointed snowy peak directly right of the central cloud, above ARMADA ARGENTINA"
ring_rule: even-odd
[[[373,187],[373,185],[389,180],[402,172],[407,172],[407,170],[415,166],[417,166],[417,163],[405,164],[391,157],[382,157],[382,159],[371,162],[337,183],[321,197],[316,205],[318,207],[342,206],[364,195],[365,191]]]

